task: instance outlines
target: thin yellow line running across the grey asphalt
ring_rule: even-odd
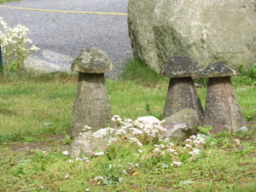
[[[8,6],[2,6],[2,5],[0,5],[0,7],[6,8],[6,9],[24,9],[24,10],[32,10],[32,11],[57,12],[57,13],[69,13],[69,14],[127,15],[127,14],[120,14],[120,13],[104,13],[104,12],[91,12],[91,11],[63,11],[63,10],[18,8],[18,7],[8,7]]]

